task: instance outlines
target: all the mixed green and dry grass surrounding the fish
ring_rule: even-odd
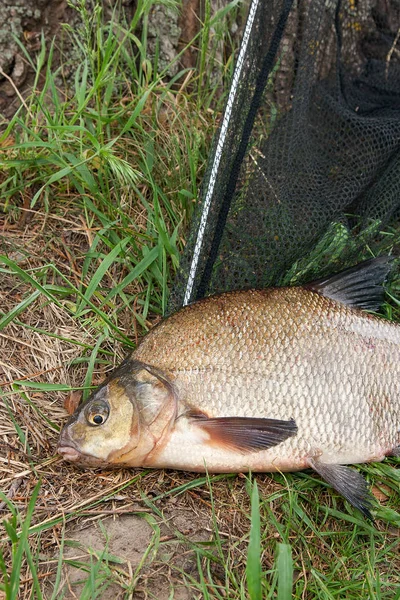
[[[398,459],[359,467],[381,494],[374,526],[308,472],[93,474],[52,458],[65,393],[85,397],[165,311],[223,103],[216,48],[230,42],[236,10],[233,2],[211,17],[206,3],[192,42],[198,65],[183,85],[187,71],[171,80],[157,52],[148,56],[151,2],[139,2],[129,24],[117,13],[104,22],[100,6],[74,6],[82,27],[67,33],[80,61],[69,89],[55,45],[42,40],[35,60],[26,55],[32,91],[0,137],[0,473],[7,492],[22,481],[12,498],[0,494],[0,591],[6,600],[62,598],[70,568],[80,570],[83,599],[115,589],[158,598],[167,575],[193,598],[400,598]],[[218,66],[221,84],[231,69]],[[318,272],[321,256],[342,259],[346,236],[334,224],[285,283]],[[365,256],[398,243],[396,227],[378,237],[379,247],[364,240]],[[400,318],[399,286],[389,285],[389,319]],[[151,528],[136,564],[112,550],[115,514]],[[71,537],[93,523],[102,550]],[[75,548],[83,558],[70,557]]]

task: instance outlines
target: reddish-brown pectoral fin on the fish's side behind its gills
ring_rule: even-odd
[[[204,413],[191,413],[190,419],[210,436],[211,443],[239,452],[257,452],[276,446],[296,435],[293,419],[252,419],[246,417],[208,418]]]

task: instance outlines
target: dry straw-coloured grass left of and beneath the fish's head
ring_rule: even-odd
[[[44,218],[43,214],[36,212],[29,212],[28,222],[23,223],[10,223],[8,217],[3,217],[1,227],[3,254],[16,260],[26,270],[37,270],[55,263],[68,277],[79,275],[88,248],[87,238],[90,240],[93,233],[79,224],[77,226],[68,216]],[[69,260],[72,256],[73,259]],[[11,312],[28,292],[28,286],[21,283],[19,278],[2,274],[1,312]],[[52,337],[53,334],[58,337]],[[189,490],[177,498],[173,497],[173,493],[170,495],[171,490],[196,479],[196,475],[172,472],[135,473],[128,470],[81,471],[55,455],[59,428],[66,417],[63,405],[67,392],[35,390],[24,386],[24,381],[81,387],[86,364],[73,363],[86,354],[84,345],[90,347],[95,344],[97,336],[98,330],[85,325],[82,319],[74,319],[69,310],[49,303],[42,296],[19,315],[19,323],[12,321],[0,332],[0,388],[3,394],[3,402],[0,404],[1,489],[12,500],[23,520],[32,491],[39,480],[42,482],[32,526],[34,530],[41,530],[38,577],[43,584],[45,597],[51,595],[51,585],[47,582],[54,581],[55,578],[56,557],[65,524],[68,538],[69,535],[78,536],[80,530],[93,529],[96,521],[107,517],[115,520],[120,515],[125,515],[134,523],[135,515],[154,512],[146,506],[143,498],[164,496],[155,503],[157,509],[164,513],[164,517],[158,519],[162,525],[161,539],[164,546],[172,544],[169,554],[176,561],[172,564],[171,560],[153,560],[151,568],[144,568],[135,585],[135,598],[147,597],[154,586],[158,590],[157,594],[161,594],[160,577],[168,579],[173,567],[186,565],[184,568],[188,569],[188,553],[193,562],[193,552],[187,547],[182,550],[181,544],[178,544],[176,528],[188,539],[206,541],[211,537],[209,492],[201,488]],[[99,383],[106,371],[124,355],[121,344],[112,340],[105,342],[103,349],[108,350],[112,356],[106,367],[100,365],[96,368],[93,384]],[[19,428],[19,433],[16,427]],[[127,486],[129,482],[133,483]],[[239,482],[238,487],[241,485],[242,482]],[[243,498],[238,502],[238,507],[240,504],[243,504]],[[229,510],[223,511],[221,535],[230,536],[236,531],[235,536],[240,538],[248,528],[244,507],[233,510],[231,494],[225,484],[221,484],[218,506],[224,505],[229,505]],[[217,513],[221,513],[221,510],[222,508],[218,508]],[[4,502],[1,504],[1,512],[3,518],[10,517]],[[120,534],[126,527],[124,522]],[[4,529],[0,536],[3,548],[7,549]],[[30,537],[33,550],[38,547],[37,537],[35,534]],[[80,539],[83,542],[83,538]],[[145,550],[146,546],[138,549],[137,561],[142,558]],[[7,551],[8,559],[9,551],[10,548]],[[83,555],[87,560],[87,553],[79,554]],[[69,558],[72,560],[71,556]],[[193,562],[192,571],[195,566]],[[134,567],[135,564],[129,563],[128,558],[127,572],[119,593],[122,593],[121,590],[129,581],[129,572],[133,577]],[[71,577],[76,578],[74,569],[65,564],[60,590],[69,590],[67,597],[72,598],[73,590],[69,584]],[[21,572],[20,597],[29,598],[31,593],[32,577],[25,562]],[[109,597],[108,593],[105,592],[103,597]]]

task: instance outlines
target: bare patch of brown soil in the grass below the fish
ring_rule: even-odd
[[[67,561],[69,559],[87,564],[90,555],[95,553],[98,556],[107,553],[111,557],[110,562],[117,562],[124,570],[131,573],[135,572],[141,561],[146,558],[145,554],[150,545],[152,548],[150,555],[153,554],[150,557],[151,567],[145,569],[145,575],[142,573],[143,581],[133,597],[141,598],[146,590],[158,600],[168,600],[171,594],[175,600],[190,600],[193,597],[192,592],[183,585],[182,580],[171,574],[170,565],[173,564],[174,568],[182,568],[186,573],[196,572],[194,552],[181,544],[176,533],[174,534],[174,531],[179,531],[183,535],[190,536],[194,526],[194,515],[190,511],[178,511],[176,514],[171,512],[169,515],[164,515],[164,518],[166,516],[168,525],[160,526],[162,541],[157,552],[152,546],[156,537],[155,528],[145,518],[130,515],[102,520],[101,526],[97,522],[86,527],[70,529],[66,544],[72,543],[73,546],[67,547],[64,557]],[[209,527],[210,524],[207,525]],[[193,541],[206,541],[209,539],[209,533],[199,528],[197,521],[196,532],[190,537]],[[79,568],[72,565],[65,567],[64,590],[68,590],[65,600],[73,600],[76,596],[80,596],[83,585],[79,584],[79,581],[82,575],[84,573]],[[107,600],[110,597],[118,597],[120,593],[119,586],[111,585],[100,598]]]

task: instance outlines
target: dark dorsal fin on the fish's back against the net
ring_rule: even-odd
[[[392,260],[391,256],[371,258],[304,287],[347,306],[378,310],[383,301],[383,283],[391,269]]]

